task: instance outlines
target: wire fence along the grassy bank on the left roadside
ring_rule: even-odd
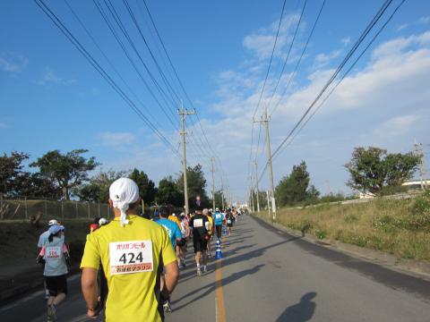
[[[18,197],[5,199],[0,195],[0,219],[28,219],[31,216],[57,219],[112,218],[108,204],[75,200],[28,199]]]

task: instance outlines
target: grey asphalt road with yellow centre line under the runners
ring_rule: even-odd
[[[305,242],[253,217],[196,277],[191,253],[166,321],[429,321],[430,282]],[[85,321],[79,278],[59,321]],[[0,308],[2,321],[46,321],[41,292]],[[101,318],[100,318],[101,320]]]

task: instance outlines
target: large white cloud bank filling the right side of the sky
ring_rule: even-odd
[[[331,56],[335,55],[331,53]],[[324,62],[329,58],[329,54],[320,55],[318,61]],[[331,69],[320,68],[309,75],[307,83],[295,84],[271,116],[272,151],[286,137],[332,72]],[[237,86],[238,80],[249,86]],[[220,74],[222,91],[219,93],[222,95],[219,95],[219,102],[210,107],[222,111],[224,118],[218,123],[202,120],[211,145],[219,156],[228,156],[225,165],[228,165],[230,183],[234,182],[231,185],[236,190],[242,189],[242,194],[245,194],[243,184],[248,170],[244,168],[244,162],[247,162],[251,147],[251,118],[262,86],[256,80],[256,76],[248,71]],[[348,162],[353,148],[376,145],[393,152],[408,151],[412,149],[414,138],[426,140],[426,124],[430,122],[427,108],[429,83],[430,31],[383,42],[374,48],[364,67],[345,78],[288,147],[288,152],[275,160],[275,184],[280,176],[289,173],[292,165],[305,159],[317,188],[324,189],[321,182],[330,180],[334,191],[345,191],[344,182],[348,174],[342,165]],[[254,90],[249,88],[253,86]],[[267,92],[271,93],[274,81],[269,79],[266,86]],[[283,86],[285,82],[280,88]],[[277,98],[278,95],[273,102]],[[264,102],[263,97],[257,117]],[[255,144],[259,125],[254,126],[257,129],[254,131]],[[260,154],[263,156],[264,137],[262,129]],[[261,166],[264,160],[262,157]],[[267,188],[266,180],[264,178],[261,182],[262,189]]]

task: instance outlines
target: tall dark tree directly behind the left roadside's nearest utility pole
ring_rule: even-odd
[[[188,203],[190,208],[196,206],[197,196],[201,199],[202,207],[209,207],[209,198],[206,194],[206,179],[202,171],[202,165],[188,166],[186,169],[186,179],[188,182]],[[184,176],[179,174],[176,179],[176,185],[181,193],[184,193]]]

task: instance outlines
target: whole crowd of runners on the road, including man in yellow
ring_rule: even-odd
[[[232,233],[237,208],[196,208],[179,216],[162,206],[150,219],[137,214],[139,188],[120,178],[109,188],[115,218],[95,218],[90,224],[82,256],[82,294],[87,316],[97,318],[106,307],[107,321],[162,321],[171,312],[170,294],[179,270],[185,268],[188,245],[193,244],[196,275],[208,274],[214,236]],[[56,219],[39,237],[37,262],[43,266],[47,321],[55,321],[56,306],[67,294],[69,248],[65,228]],[[106,304],[106,305],[105,305]]]

